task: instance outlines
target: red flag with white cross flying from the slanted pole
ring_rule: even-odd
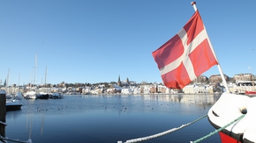
[[[180,32],[152,54],[163,83],[170,89],[183,89],[218,64],[199,11],[193,14]]]

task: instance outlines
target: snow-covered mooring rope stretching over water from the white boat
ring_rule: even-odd
[[[133,142],[145,141],[145,140],[147,140],[147,139],[154,139],[154,138],[157,138],[157,137],[166,135],[166,134],[168,134],[168,133],[170,133],[170,132],[176,132],[177,130],[182,129],[182,128],[188,126],[188,125],[192,125],[193,123],[199,121],[199,120],[202,119],[202,118],[206,118],[206,117],[207,117],[207,115],[204,115],[203,117],[198,118],[198,119],[196,119],[196,120],[194,120],[194,121],[192,121],[192,122],[190,122],[190,123],[188,123],[188,124],[186,124],[186,125],[181,125],[180,127],[172,128],[172,129],[170,129],[170,130],[168,130],[168,131],[160,132],[160,133],[157,133],[157,134],[154,134],[154,135],[151,135],[151,136],[142,137],[142,138],[138,138],[138,139],[126,140],[126,142],[124,142],[124,143],[133,143]],[[122,141],[117,141],[117,143],[122,143]]]

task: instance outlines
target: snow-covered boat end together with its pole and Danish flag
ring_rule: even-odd
[[[196,3],[192,6],[195,13],[182,30],[152,53],[162,82],[169,89],[183,89],[217,66],[226,91],[207,112],[209,123],[220,131],[222,143],[256,142],[256,97],[230,92]]]

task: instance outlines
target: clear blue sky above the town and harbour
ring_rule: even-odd
[[[34,81],[37,54],[35,83],[162,82],[152,52],[192,17],[191,2],[1,1],[0,80]],[[256,1],[196,3],[223,73],[255,75]],[[215,66],[203,75],[216,74]]]

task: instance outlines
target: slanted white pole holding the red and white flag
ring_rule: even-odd
[[[196,2],[192,2],[191,4],[192,4],[192,7],[193,7],[194,11],[198,11],[198,9],[197,9],[197,7],[196,7]],[[206,29],[206,27],[204,27],[204,28]],[[207,32],[207,30],[206,30],[206,32]],[[208,34],[207,34],[207,38],[208,38]],[[208,42],[209,42],[209,45],[212,46],[212,43],[211,43],[211,41],[210,41],[209,38],[208,38]],[[213,47],[213,46],[212,46],[212,47]],[[215,54],[215,50],[214,50],[214,49],[212,49],[212,50],[213,50],[213,52],[214,52],[214,54]],[[216,57],[216,54],[215,54],[215,57]],[[217,57],[216,57],[216,60],[218,61]],[[221,68],[221,65],[220,65],[219,61],[218,61],[217,67],[218,67],[219,72],[220,72],[220,74],[221,74],[222,82],[223,82],[223,84],[224,84],[224,87],[225,87],[225,89],[226,89],[226,92],[227,92],[227,93],[230,93],[230,89],[229,89],[228,83],[227,83],[227,81],[226,81],[226,79],[225,79],[225,76],[224,76],[224,74],[223,74],[223,72],[222,72],[222,68]]]

